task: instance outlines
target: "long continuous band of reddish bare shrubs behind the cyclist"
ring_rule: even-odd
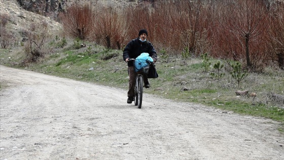
[[[85,39],[94,33],[92,40],[108,48],[123,49],[145,28],[158,52],[180,55],[188,48],[191,56],[207,52],[252,69],[277,61],[282,69],[283,5],[265,0],[167,0],[143,1],[123,10],[96,6],[93,12],[91,5],[76,4],[62,21],[70,35]]]

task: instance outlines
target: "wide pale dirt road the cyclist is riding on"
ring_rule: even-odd
[[[0,66],[0,159],[283,159],[279,123]]]

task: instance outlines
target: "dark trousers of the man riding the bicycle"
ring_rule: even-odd
[[[128,67],[128,75],[129,75],[129,80],[128,80],[128,92],[127,96],[128,97],[134,97],[134,87],[135,87],[135,81],[136,81],[136,72],[134,70],[134,67]],[[144,84],[149,83],[149,80],[146,75],[143,75],[144,77]]]

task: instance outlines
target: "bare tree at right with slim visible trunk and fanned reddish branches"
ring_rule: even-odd
[[[227,3],[227,13],[230,13],[226,15],[228,29],[234,36],[240,37],[242,44],[244,41],[246,65],[251,67],[250,42],[260,41],[260,35],[265,33],[268,25],[267,8],[263,1],[258,0],[228,0]]]

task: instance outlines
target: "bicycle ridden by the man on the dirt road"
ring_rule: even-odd
[[[135,62],[135,59],[131,58],[130,60]],[[134,105],[138,106],[138,108],[141,108],[142,106],[142,99],[143,99],[143,85],[144,85],[144,79],[143,76],[148,74],[149,72],[149,66],[150,61],[147,61],[148,66],[142,68],[140,71],[136,72],[136,80],[135,80],[135,87],[134,87]],[[135,66],[135,65],[134,65]]]

